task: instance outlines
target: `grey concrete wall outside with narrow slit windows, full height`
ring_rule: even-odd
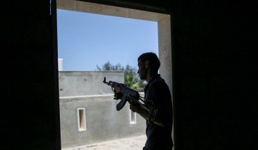
[[[122,110],[116,111],[119,100],[114,100],[111,87],[103,84],[104,76],[107,81],[123,83],[124,73],[121,71],[59,72],[62,148],[145,133],[146,122],[138,114],[136,123],[130,122],[128,103]],[[85,110],[86,130],[79,130],[78,108]]]

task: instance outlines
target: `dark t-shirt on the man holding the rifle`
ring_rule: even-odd
[[[147,141],[144,149],[171,150],[174,145],[172,141],[172,97],[169,87],[160,75],[155,75],[155,77],[153,77],[146,85],[144,89],[144,98],[152,100],[158,107],[155,119],[162,120],[162,123],[165,125],[165,127],[162,127],[155,123],[151,123],[148,120],[146,121]]]

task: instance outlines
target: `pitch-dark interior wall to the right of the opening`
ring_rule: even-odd
[[[257,149],[254,10],[174,3],[176,149]]]

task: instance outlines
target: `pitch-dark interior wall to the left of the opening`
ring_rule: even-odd
[[[0,14],[1,149],[61,149],[50,1],[5,1]]]

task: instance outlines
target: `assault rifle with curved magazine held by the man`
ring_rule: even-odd
[[[149,121],[153,121],[155,119],[155,114],[158,111],[157,107],[153,104],[151,100],[146,100],[145,98],[139,96],[139,92],[135,89],[130,89],[129,87],[126,87],[126,84],[121,84],[118,82],[106,82],[106,77],[104,77],[103,80],[104,84],[107,84],[108,86],[112,87],[112,91],[116,92],[116,98],[118,99],[118,93],[123,93],[123,97],[121,98],[121,101],[116,105],[116,110],[119,111],[123,108],[124,105],[126,105],[126,102],[129,103],[138,103],[141,107],[143,107],[145,110],[147,110],[149,114]]]

